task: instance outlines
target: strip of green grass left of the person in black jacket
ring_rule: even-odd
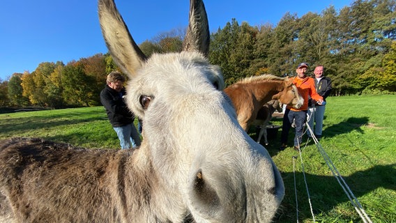
[[[103,107],[0,114],[0,128],[0,139],[40,137],[89,148],[120,148]]]

